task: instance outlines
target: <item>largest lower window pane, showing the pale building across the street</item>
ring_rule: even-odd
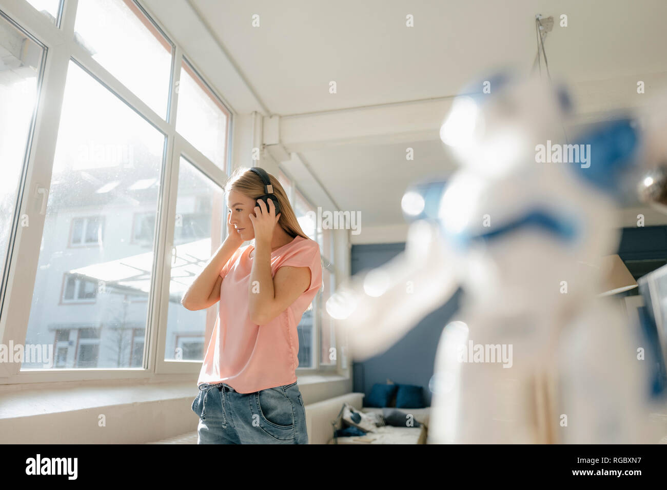
[[[162,133],[69,63],[26,338],[49,345],[58,330],[71,330],[71,352],[60,367],[131,366],[132,332],[146,327],[148,303],[127,298],[147,298],[153,269],[153,249],[130,243],[132,216],[156,213],[159,197],[159,187],[132,185],[159,181],[164,145]],[[119,184],[98,192],[113,181]],[[84,239],[94,235],[99,246],[68,246],[71,221],[82,215]],[[60,301],[65,274],[77,278],[70,302]],[[69,279],[67,287],[65,296]]]

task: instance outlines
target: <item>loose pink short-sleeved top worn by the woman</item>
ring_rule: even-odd
[[[271,252],[271,276],[283,265],[309,267],[310,285],[285,311],[265,325],[250,321],[249,289],[253,245],[239,247],[220,271],[219,315],[197,385],[226,383],[239,393],[289,385],[299,365],[297,325],[322,283],[319,245],[297,235]],[[254,256],[254,253],[253,253]]]

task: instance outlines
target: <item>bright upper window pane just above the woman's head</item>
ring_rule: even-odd
[[[228,123],[227,109],[183,61],[176,131],[223,170],[227,160]]]

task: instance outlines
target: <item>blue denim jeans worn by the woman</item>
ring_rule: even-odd
[[[225,383],[199,385],[192,402],[197,444],[307,444],[305,408],[296,382],[238,393]]]

